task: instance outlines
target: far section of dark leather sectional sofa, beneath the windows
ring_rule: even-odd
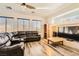
[[[41,35],[37,31],[18,31],[13,37],[23,39],[20,40],[22,42],[35,42],[41,39]]]

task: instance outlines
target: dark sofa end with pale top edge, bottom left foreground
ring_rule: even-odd
[[[23,55],[24,52],[23,49],[21,48],[21,44],[0,48],[0,56],[23,56]]]

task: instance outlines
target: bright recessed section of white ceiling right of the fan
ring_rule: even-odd
[[[36,7],[36,9],[56,9],[62,4],[61,3],[28,3],[28,5],[32,5]]]

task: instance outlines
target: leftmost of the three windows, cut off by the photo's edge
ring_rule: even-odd
[[[13,17],[0,16],[0,32],[13,31]]]

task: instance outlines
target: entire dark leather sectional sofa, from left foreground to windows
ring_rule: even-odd
[[[23,56],[21,42],[40,41],[37,31],[18,31],[0,33],[0,56]],[[3,41],[3,42],[2,42]]]

